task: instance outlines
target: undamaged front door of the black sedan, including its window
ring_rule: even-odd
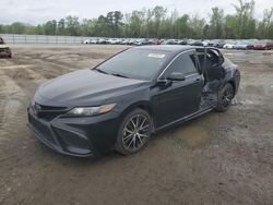
[[[178,55],[161,79],[171,72],[182,73],[183,81],[171,81],[158,91],[159,116],[157,125],[164,125],[199,110],[204,84],[203,75],[198,72],[198,60],[193,50]]]

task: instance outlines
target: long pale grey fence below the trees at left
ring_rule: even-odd
[[[0,34],[7,44],[82,44],[94,37]]]

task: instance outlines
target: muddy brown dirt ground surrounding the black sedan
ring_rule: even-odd
[[[0,59],[0,204],[273,204],[273,51],[232,51],[230,109],[155,135],[136,155],[62,156],[35,140],[37,86],[92,68],[122,46],[12,46]]]

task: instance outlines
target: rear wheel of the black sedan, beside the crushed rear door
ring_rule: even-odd
[[[218,112],[224,112],[228,109],[235,95],[234,86],[230,83],[227,83],[219,92],[217,106],[215,108]]]

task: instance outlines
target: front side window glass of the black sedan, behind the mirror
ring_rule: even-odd
[[[185,75],[197,73],[194,52],[189,51],[177,57],[166,70],[164,76],[167,77],[173,72],[182,73]]]

